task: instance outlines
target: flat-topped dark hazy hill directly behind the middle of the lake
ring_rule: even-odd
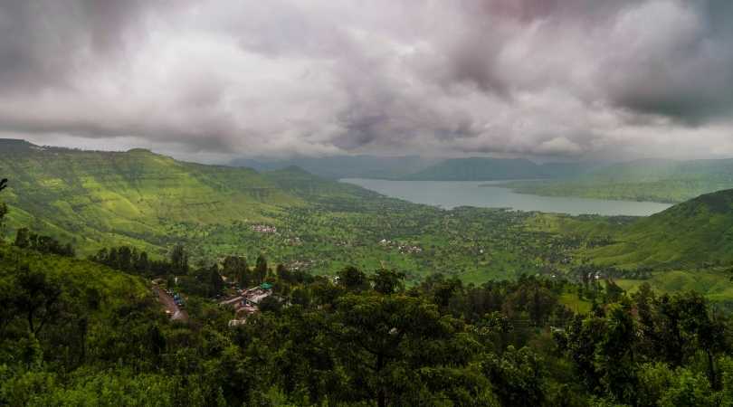
[[[524,158],[452,158],[422,171],[405,175],[418,181],[492,181],[509,179],[557,178],[577,175],[591,167],[588,163],[548,163],[538,165]]]

